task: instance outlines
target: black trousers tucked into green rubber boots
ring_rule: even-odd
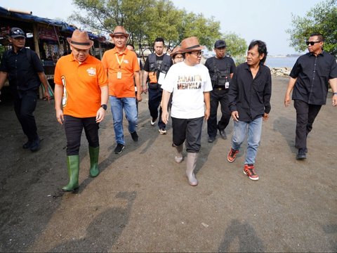
[[[100,145],[98,139],[98,129],[100,124],[96,122],[95,117],[77,118],[65,115],[65,136],[67,138],[67,155],[79,155],[79,146],[81,145],[82,130],[86,133],[86,139],[89,146],[97,148]]]

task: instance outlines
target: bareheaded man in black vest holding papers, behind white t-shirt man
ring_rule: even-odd
[[[173,65],[171,57],[164,53],[164,39],[157,38],[154,40],[154,53],[147,56],[144,65],[143,74],[143,92],[149,91],[149,110],[151,115],[151,126],[156,124],[158,118],[158,108],[160,106],[163,89],[161,82],[164,81],[166,73]],[[147,87],[148,84],[148,87]],[[159,108],[159,133],[166,134],[166,124],[161,120],[161,107]]]

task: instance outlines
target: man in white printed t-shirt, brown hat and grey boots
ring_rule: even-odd
[[[197,37],[181,41],[180,52],[185,60],[172,65],[167,72],[163,89],[162,121],[169,121],[168,102],[172,98],[173,147],[178,155],[176,162],[183,161],[183,143],[187,151],[186,176],[191,186],[197,186],[194,175],[197,156],[201,147],[201,129],[204,120],[209,119],[211,105],[209,92],[213,89],[209,70],[200,64],[204,46],[200,46]],[[206,110],[205,110],[206,105]]]

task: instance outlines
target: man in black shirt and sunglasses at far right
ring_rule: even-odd
[[[326,104],[329,84],[333,91],[332,105],[337,105],[337,63],[331,54],[323,50],[324,37],[314,33],[307,41],[308,51],[300,56],[290,72],[290,80],[284,97],[284,105],[290,104],[293,90],[293,106],[296,109],[297,160],[305,160],[307,137],[322,105]]]

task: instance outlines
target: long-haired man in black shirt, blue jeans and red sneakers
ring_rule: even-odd
[[[234,162],[239,148],[248,132],[244,174],[251,180],[258,180],[254,163],[260,136],[262,121],[269,118],[270,97],[272,96],[272,77],[269,67],[265,66],[267,46],[263,41],[251,41],[247,52],[247,62],[237,66],[228,102],[234,120],[232,148],[227,155],[228,162]]]

